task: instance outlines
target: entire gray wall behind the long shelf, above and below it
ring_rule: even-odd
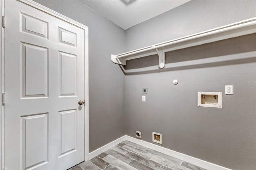
[[[256,17],[255,9],[256,1],[190,1],[127,29],[126,51]],[[255,40],[252,34],[172,51],[164,69],[157,68],[156,55],[128,61],[126,134],[141,131],[142,140],[152,143],[152,131],[162,133],[162,147],[254,170]],[[225,85],[233,85],[234,95],[224,94]],[[148,87],[146,102],[142,87]],[[223,108],[198,107],[198,91],[222,92]]]

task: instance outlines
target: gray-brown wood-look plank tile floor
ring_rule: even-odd
[[[178,158],[123,141],[69,170],[205,170]]]

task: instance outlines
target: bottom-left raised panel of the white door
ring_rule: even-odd
[[[48,161],[48,113],[22,116],[21,119],[23,169],[44,164]]]

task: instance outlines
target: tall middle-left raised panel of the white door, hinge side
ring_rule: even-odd
[[[48,49],[22,45],[22,96],[48,96]]]

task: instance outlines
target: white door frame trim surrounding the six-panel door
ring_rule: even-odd
[[[45,12],[47,14],[50,14],[51,16],[54,16],[56,18],[59,18],[60,20],[66,21],[72,25],[75,25],[77,27],[80,27],[84,30],[84,100],[85,100],[85,107],[84,107],[84,160],[89,159],[89,57],[88,57],[88,27],[74,21],[62,14],[59,14],[58,12],[55,12],[49,8],[46,8],[45,6],[42,6],[41,4],[38,4],[32,0],[18,0],[24,4],[27,4],[31,6],[32,8],[36,8],[42,12]],[[5,0],[0,1],[0,14],[1,16],[4,16],[5,12]],[[6,18],[6,27],[8,27],[8,18]],[[2,17],[0,18],[0,89],[1,89],[1,97],[0,97],[0,167],[1,169],[4,169],[4,105],[2,105],[2,93],[4,93],[4,28],[2,27]]]

